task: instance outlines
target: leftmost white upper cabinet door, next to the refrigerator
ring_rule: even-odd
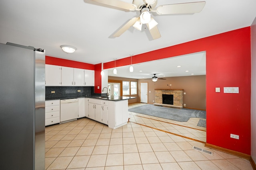
[[[45,85],[61,86],[61,66],[45,64]]]

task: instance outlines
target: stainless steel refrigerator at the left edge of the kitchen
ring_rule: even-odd
[[[45,51],[0,43],[0,169],[45,169]]]

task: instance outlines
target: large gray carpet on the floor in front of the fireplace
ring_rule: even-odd
[[[206,111],[195,109],[174,109],[169,107],[154,106],[152,104],[146,104],[143,106],[133,107],[128,109],[135,113],[141,113],[144,115],[151,115],[155,117],[161,117],[164,119],[170,119],[175,121],[188,121],[190,117],[198,117],[206,119]]]

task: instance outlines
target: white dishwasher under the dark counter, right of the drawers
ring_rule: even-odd
[[[60,123],[78,118],[78,99],[60,100]]]

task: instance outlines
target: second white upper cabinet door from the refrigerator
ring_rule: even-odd
[[[62,86],[74,86],[74,68],[62,66],[61,81]]]

